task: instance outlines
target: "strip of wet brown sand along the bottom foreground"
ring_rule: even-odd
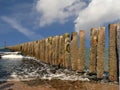
[[[119,90],[118,83],[62,80],[0,82],[0,90]]]

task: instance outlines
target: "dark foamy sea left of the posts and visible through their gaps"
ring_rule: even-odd
[[[0,53],[12,54],[9,49],[0,48]],[[86,68],[89,67],[89,49],[86,50]],[[105,50],[104,71],[108,72],[108,49]],[[71,69],[59,68],[36,60],[34,57],[23,56],[24,58],[0,58],[0,81],[26,81],[33,79],[61,79],[61,80],[82,80],[89,81],[86,74],[81,75]],[[119,57],[120,58],[120,57]],[[120,73],[119,73],[120,74]],[[93,78],[95,76],[92,76]],[[92,78],[91,77],[91,78]]]

